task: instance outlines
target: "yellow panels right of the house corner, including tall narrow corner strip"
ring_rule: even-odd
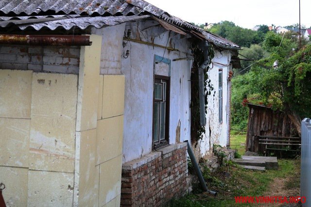
[[[102,38],[91,35],[92,46],[81,48],[74,190],[79,206],[120,206],[125,79],[100,75]]]

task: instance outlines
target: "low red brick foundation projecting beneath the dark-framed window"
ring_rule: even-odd
[[[169,145],[122,165],[121,206],[163,206],[185,194],[187,144]]]

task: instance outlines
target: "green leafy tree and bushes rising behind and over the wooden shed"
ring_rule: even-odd
[[[231,117],[235,127],[246,127],[248,108],[242,103],[283,110],[298,131],[301,119],[311,117],[311,45],[298,51],[297,41],[285,36],[282,41],[282,36],[268,32],[263,48],[271,54],[252,65],[248,73],[233,78]],[[273,68],[275,61],[278,67]]]

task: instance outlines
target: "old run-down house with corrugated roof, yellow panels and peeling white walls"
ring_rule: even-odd
[[[215,53],[197,153],[227,144],[234,43],[143,0],[0,0],[0,20],[7,206],[148,206],[185,193],[193,48]]]

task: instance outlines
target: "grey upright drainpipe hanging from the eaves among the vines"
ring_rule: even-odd
[[[209,64],[209,56],[208,56],[208,43],[207,41],[202,42],[199,45],[199,48],[203,51],[204,61],[198,68],[199,72],[199,100],[200,100],[200,124],[201,126],[206,125],[206,117],[205,117],[205,88],[204,88],[204,70],[207,68]]]

